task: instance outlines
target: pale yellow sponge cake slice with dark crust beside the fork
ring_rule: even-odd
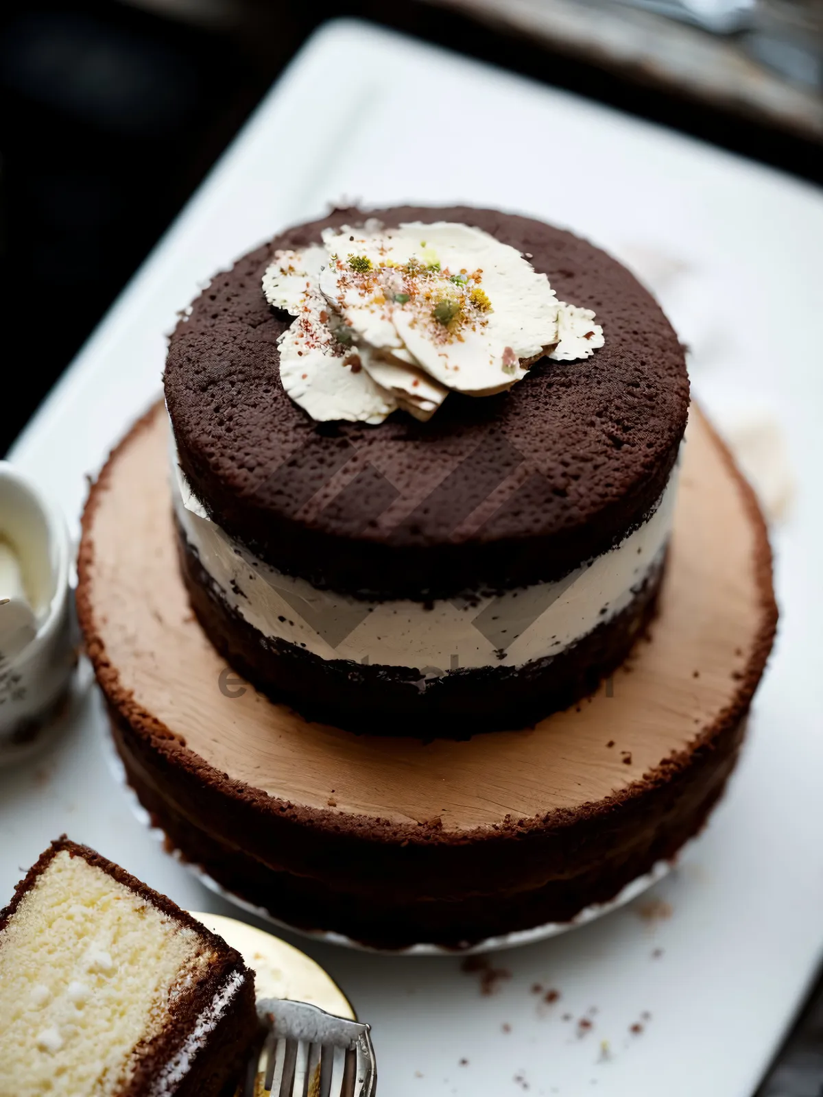
[[[0,1097],[212,1097],[255,1037],[253,974],[65,837],[0,914]]]

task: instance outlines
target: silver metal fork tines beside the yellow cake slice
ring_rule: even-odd
[[[374,1097],[377,1065],[369,1025],[334,1017],[305,1002],[258,998],[261,1042],[243,1097]]]

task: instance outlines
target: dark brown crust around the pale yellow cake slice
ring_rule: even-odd
[[[232,997],[214,1026],[207,1043],[200,1049],[191,1070],[174,1090],[177,1097],[219,1097],[226,1085],[237,1077],[247,1049],[257,1034],[253,976],[236,949],[229,948],[219,937],[192,918],[187,911],[180,909],[168,896],[153,891],[119,864],[101,857],[95,850],[70,841],[63,835],[40,856],[15,887],[11,902],[0,912],[0,931],[5,928],[23,897],[36,884],[37,878],[47,869],[52,859],[63,850],[101,869],[180,926],[193,929],[219,958],[208,977],[201,980],[194,993],[181,996],[171,1005],[170,1020],[162,1032],[145,1048],[138,1049],[137,1067],[121,1097],[144,1097],[146,1093],[154,1092],[151,1087],[158,1077],[158,1072],[173,1058],[195,1021],[208,1008],[215,994],[228,979],[235,975],[243,976],[240,988]]]

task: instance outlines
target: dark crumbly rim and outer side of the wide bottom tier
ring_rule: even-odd
[[[374,940],[390,934],[394,945],[416,943],[425,930],[429,940],[453,945],[509,931],[514,927],[505,919],[518,909],[526,912],[518,915],[522,928],[527,921],[571,918],[590,903],[609,898],[607,892],[619,891],[625,882],[619,879],[624,856],[631,873],[642,874],[700,828],[734,765],[777,624],[765,522],[754,493],[717,436],[713,444],[755,534],[759,620],[746,661],[735,670],[729,702],[697,730],[688,748],[619,792],[577,808],[465,832],[443,827],[439,817],[402,823],[307,807],[232,780],[190,750],[122,685],[92,599],[93,521],[119,451],[150,428],[154,414],[121,442],[91,488],[78,562],[78,613],[129,779],[166,827],[170,844],[206,866],[215,879],[252,902],[267,903],[275,916],[291,915],[304,925],[328,926],[334,919],[328,928],[341,929],[345,921],[353,938]],[[576,870],[574,880],[570,866]],[[282,883],[282,894],[272,890],[273,883]],[[540,896],[552,889],[552,902],[542,902]],[[324,905],[315,908],[320,895]],[[352,902],[351,913],[346,903],[329,901],[338,895]],[[387,903],[399,929],[384,926],[375,934],[369,912],[379,908],[386,918]],[[425,920],[420,928],[414,920],[418,917]]]

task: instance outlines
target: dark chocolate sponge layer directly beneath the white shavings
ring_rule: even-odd
[[[594,308],[605,347],[542,360],[498,396],[451,394],[426,423],[315,422],[280,383],[292,318],[262,274],[277,249],[369,216],[491,233],[561,301]],[[165,387],[182,470],[228,533],[315,586],[424,601],[556,579],[618,544],[663,491],[689,403],[683,348],[624,267],[563,229],[465,206],[336,210],[249,252],[178,325]]]

